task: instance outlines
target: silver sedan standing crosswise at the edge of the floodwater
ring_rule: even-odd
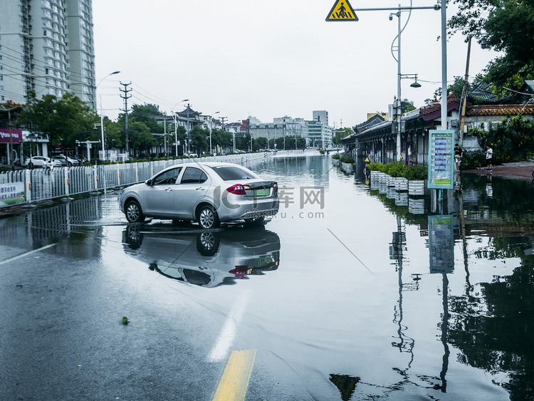
[[[220,222],[263,222],[278,213],[278,183],[231,163],[175,165],[122,190],[128,222],[145,217],[197,221],[203,229]]]

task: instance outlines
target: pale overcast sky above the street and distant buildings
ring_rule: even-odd
[[[362,123],[367,113],[387,112],[397,95],[397,16],[360,11],[358,22],[326,22],[335,1],[93,0],[97,100],[115,120],[124,108],[120,82],[131,82],[129,108],[153,103],[170,114],[189,99],[195,110],[219,111],[229,122],[248,115],[263,123],[284,115],[311,120],[313,110],[328,110],[332,126]],[[399,2],[409,6],[350,0],[355,9]],[[441,86],[440,32],[440,11],[414,10],[402,33],[402,73],[417,73],[422,84],[410,88],[403,79],[402,98],[417,107]],[[466,54],[463,37],[449,40],[449,83],[464,76]],[[469,75],[494,57],[473,41]],[[105,78],[113,71],[121,72]]]

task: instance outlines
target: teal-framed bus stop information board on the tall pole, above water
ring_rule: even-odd
[[[430,130],[429,188],[454,187],[454,130]]]

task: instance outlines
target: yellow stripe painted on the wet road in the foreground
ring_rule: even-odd
[[[256,350],[232,351],[211,401],[243,401],[254,358]]]

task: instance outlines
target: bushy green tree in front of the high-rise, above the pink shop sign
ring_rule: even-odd
[[[72,93],[66,93],[63,98],[44,95],[41,100],[36,100],[35,93],[30,93],[27,106],[18,125],[43,132],[53,146],[75,147],[80,135],[85,135],[98,122],[95,112]]]

